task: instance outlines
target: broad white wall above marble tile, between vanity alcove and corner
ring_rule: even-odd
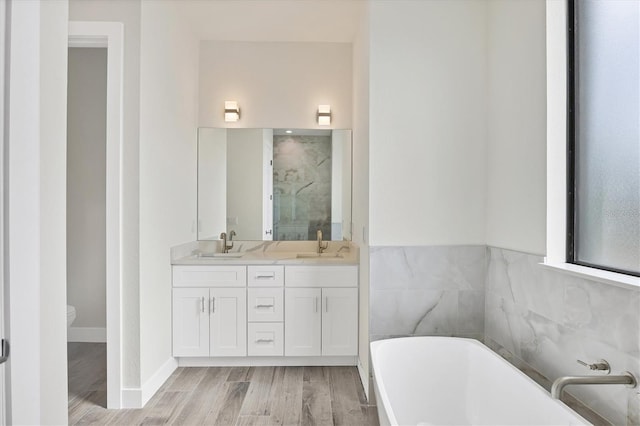
[[[484,244],[486,3],[370,13],[370,244]]]

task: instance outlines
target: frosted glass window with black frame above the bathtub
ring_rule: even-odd
[[[568,19],[567,261],[640,276],[640,2]]]

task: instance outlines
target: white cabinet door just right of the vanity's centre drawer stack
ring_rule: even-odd
[[[320,289],[288,288],[284,301],[284,354],[320,355]]]

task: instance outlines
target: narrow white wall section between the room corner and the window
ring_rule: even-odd
[[[545,253],[545,2],[488,2],[487,244]]]

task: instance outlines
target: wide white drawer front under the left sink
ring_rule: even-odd
[[[246,266],[174,266],[174,287],[244,287]]]

